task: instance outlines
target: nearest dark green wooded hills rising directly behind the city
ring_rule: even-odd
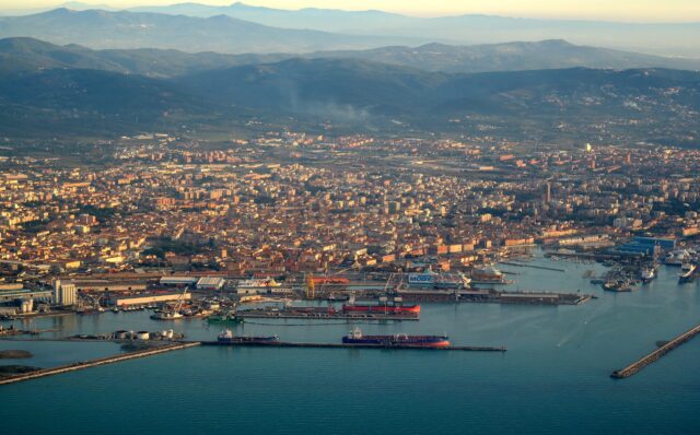
[[[218,67],[189,64],[200,56]],[[337,58],[223,67],[230,58],[236,57],[3,40],[0,134],[225,130],[250,119],[295,128],[330,122],[350,131],[489,131],[539,140],[672,141],[682,132],[684,141],[693,141],[700,134],[700,73],[691,71],[465,74]],[[179,74],[164,73],[164,66]]]

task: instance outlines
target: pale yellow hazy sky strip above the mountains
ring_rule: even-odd
[[[52,7],[66,0],[0,0],[0,9]],[[194,1],[231,4],[235,0],[85,0],[116,8]],[[347,10],[380,9],[412,15],[490,13],[510,16],[604,19],[610,21],[698,21],[700,0],[246,0],[248,4],[281,9],[306,7]]]

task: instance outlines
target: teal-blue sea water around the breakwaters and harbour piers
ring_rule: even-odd
[[[455,344],[505,345],[506,353],[195,348],[0,387],[0,427],[21,434],[700,433],[699,339],[637,376],[609,377],[657,340],[699,322],[700,285],[678,285],[677,270],[662,267],[658,280],[634,293],[604,293],[582,278],[600,266],[545,261],[538,260],[568,272],[503,266],[518,273],[509,289],[581,290],[599,298],[560,307],[425,304],[419,322],[360,325],[368,333],[446,332]],[[201,320],[171,325],[189,339],[219,332]],[[60,327],[59,336],[164,328],[148,313],[31,326]],[[336,342],[351,327],[276,320],[238,332]],[[30,344],[35,353],[51,345],[56,361],[42,353],[45,366],[108,351],[93,343]],[[84,346],[84,354],[72,346]]]

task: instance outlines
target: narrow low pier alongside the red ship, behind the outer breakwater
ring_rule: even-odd
[[[276,318],[307,320],[419,320],[417,313],[341,311],[328,307],[260,307],[238,310],[241,318]]]

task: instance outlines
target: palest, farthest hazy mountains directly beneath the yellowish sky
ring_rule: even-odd
[[[67,7],[73,10],[89,10],[96,8],[108,9],[108,7],[94,7],[79,2],[67,3]],[[300,44],[298,40],[296,47],[305,47],[304,51],[337,49],[339,48],[339,43],[342,43],[343,48],[362,49],[378,47],[382,45],[388,45],[388,39],[394,40],[393,44],[399,45],[419,45],[429,43],[474,45],[508,43],[512,40],[533,42],[544,39],[567,39],[579,45],[593,45],[663,56],[700,58],[700,23],[638,24],[599,21],[513,19],[491,15],[459,15],[421,19],[382,11],[357,12],[332,9],[302,9],[298,11],[290,11],[253,7],[240,2],[228,7],[179,3],[166,7],[132,8],[130,11],[199,19],[229,16],[277,28],[320,31],[335,35],[343,35],[343,38],[330,40],[334,44],[338,43],[335,47],[330,47],[330,42],[324,42],[323,46],[319,46],[318,40],[316,40],[316,45],[311,44],[307,39],[304,44]],[[177,22],[183,23],[183,20],[179,19]],[[139,24],[152,26],[154,30],[162,25],[158,23],[150,23],[148,21]],[[197,24],[187,24],[184,28],[188,31],[190,25],[195,27],[197,26]],[[113,31],[113,28],[110,28],[110,31]],[[31,35],[7,33],[2,33],[2,35],[35,36],[47,39],[45,34],[39,34],[38,32]],[[350,35],[359,36],[364,39],[348,40],[347,38]],[[374,36],[366,39],[368,35]],[[314,34],[306,34],[306,36],[313,37]],[[301,35],[296,34],[295,37],[301,38]],[[383,39],[380,38],[377,40],[377,37],[383,37]],[[67,40],[50,40],[67,43]],[[70,42],[80,43],[80,40]],[[290,40],[290,48],[281,49],[281,51],[300,51],[299,49],[291,48],[293,46],[293,42],[294,38]],[[410,42],[412,42],[412,44]],[[215,48],[215,50],[225,50],[228,52],[259,51],[258,49],[241,50],[237,47],[235,49],[231,49],[230,47],[222,49],[222,47],[225,46],[226,45],[221,45]],[[100,45],[100,47],[116,46],[103,44]],[[125,45],[120,48],[125,47],[133,47],[133,45]],[[269,44],[267,47],[269,48],[268,51],[280,51],[278,47],[270,48]],[[166,48],[174,47],[168,46]],[[190,48],[185,47],[183,47],[183,49],[190,50]],[[205,47],[199,49],[199,51],[202,49],[211,48]]]

